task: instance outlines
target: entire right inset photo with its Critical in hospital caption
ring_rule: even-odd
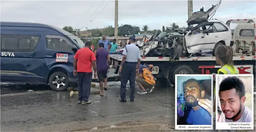
[[[216,75],[216,130],[253,129],[253,75]]]

